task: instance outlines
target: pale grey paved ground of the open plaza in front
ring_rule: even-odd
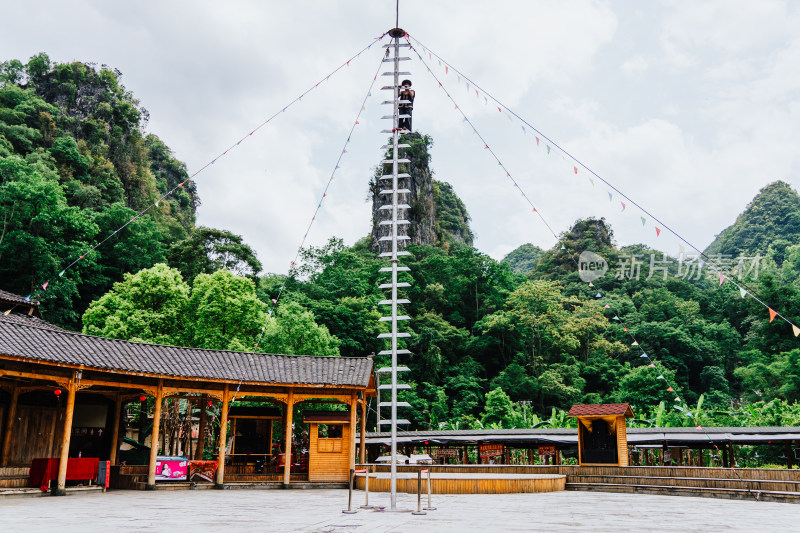
[[[363,493],[354,493],[363,503]],[[399,494],[402,507],[416,496]],[[370,503],[388,505],[386,494]],[[423,499],[423,504],[425,500]],[[204,490],[0,499],[0,532],[797,531],[800,505],[712,498],[551,492],[434,495],[436,511],[342,514],[344,490]],[[355,506],[354,506],[355,507]]]

